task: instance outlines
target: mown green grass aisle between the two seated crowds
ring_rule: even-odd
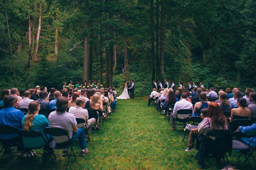
[[[170,124],[152,106],[147,106],[148,98],[118,100],[116,112],[104,121],[99,131],[92,131],[87,142],[89,154],[80,156],[78,141],[74,143],[77,160],[71,157],[68,170],[197,170],[195,154],[197,150],[185,152],[187,141],[182,142],[183,130],[170,131]],[[229,163],[239,170],[248,170],[243,164],[229,158]],[[5,156],[0,162],[6,169],[40,169],[41,157],[27,160]],[[48,169],[62,170],[66,157],[53,157]],[[253,162],[251,161],[251,164]],[[19,166],[19,167],[18,167]],[[222,167],[224,167],[222,161]],[[44,167],[44,166],[43,166]],[[206,160],[209,170],[218,170],[216,160]],[[256,165],[253,165],[256,169]]]

